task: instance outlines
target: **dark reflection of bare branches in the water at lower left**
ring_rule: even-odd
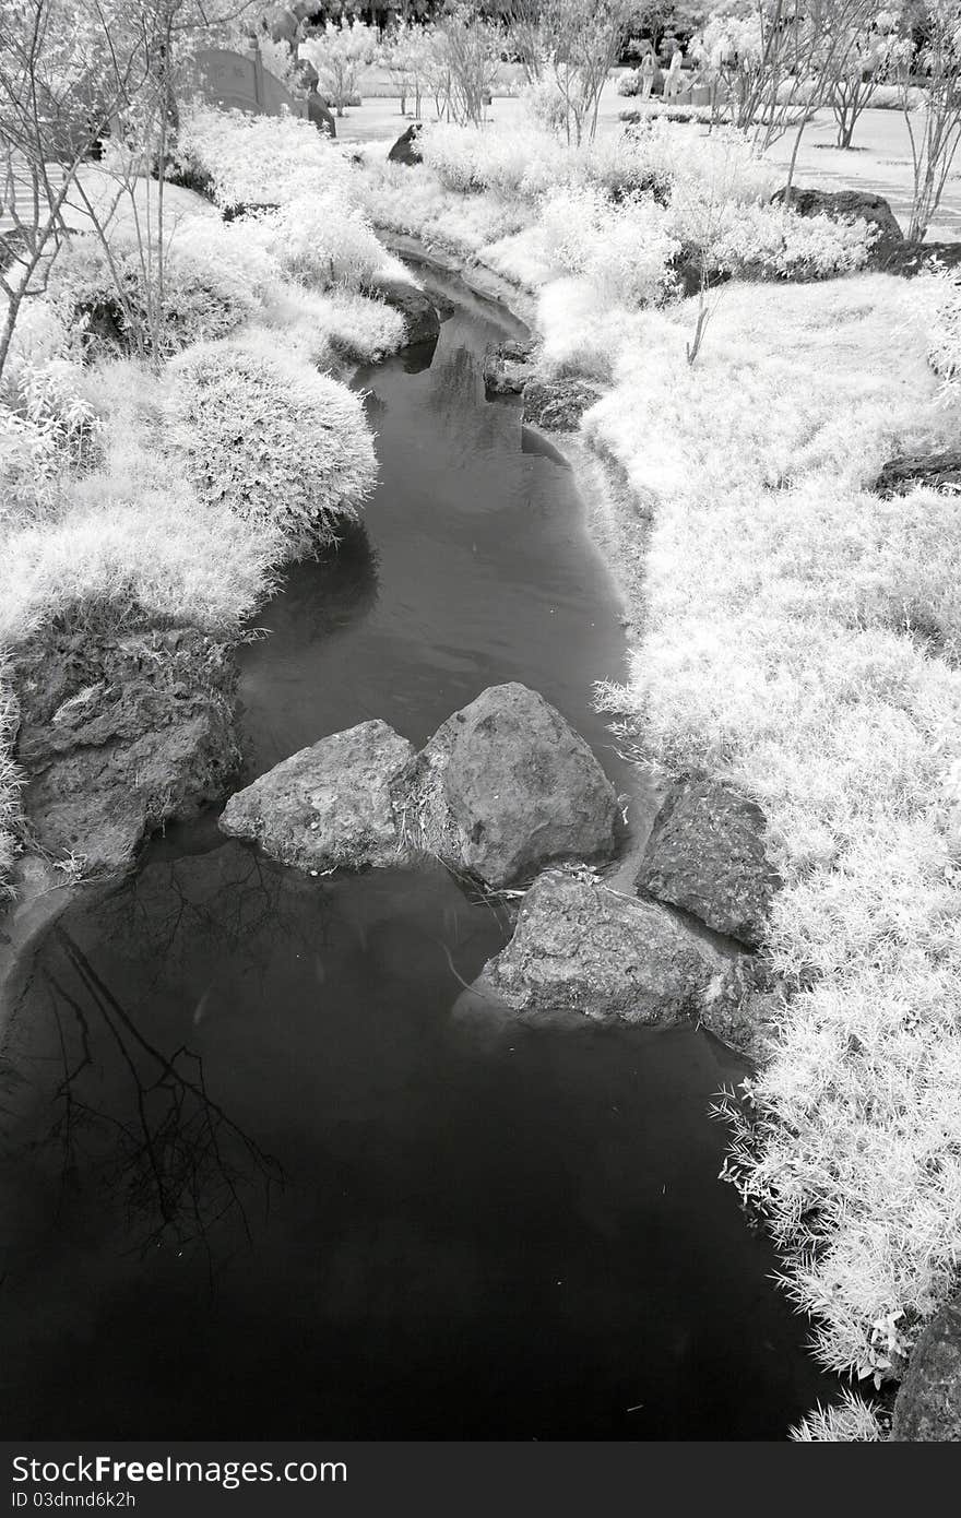
[[[244,1196],[258,1184],[269,1207],[272,1187],[282,1184],[281,1167],[213,1101],[202,1060],[185,1046],[165,1055],[150,1043],[74,940],[62,927],[55,934],[88,1003],[82,1006],[46,972],[64,1072],[55,1093],[62,1111],[52,1132],[64,1148],[64,1172],[74,1170],[85,1135],[106,1138],[105,1178],[124,1198],[128,1222],[140,1228],[146,1222],[138,1248],[173,1245],[184,1252],[200,1246],[213,1280],[214,1230],[240,1225],[249,1243]],[[64,1025],[65,1009],[76,1019],[73,1037]],[[131,1117],[99,1110],[85,1096],[80,1076],[94,1066],[94,1019],[126,1072]]]

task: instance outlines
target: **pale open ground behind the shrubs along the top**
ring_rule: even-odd
[[[387,88],[386,80],[370,79],[370,88]],[[616,93],[616,74],[607,80],[601,96],[598,129],[615,132],[621,128],[621,112],[636,108],[636,102]],[[434,118],[434,103],[422,102],[422,118]],[[489,117],[501,124],[524,126],[524,108],[516,97],[495,96]],[[386,96],[366,96],[363,105],[348,109],[337,120],[337,135],[346,143],[377,141],[399,137],[413,121],[413,102],[407,102],[407,115],[401,115],[399,100]],[[706,131],[691,126],[688,131]],[[908,228],[911,211],[911,141],[900,111],[865,111],[855,132],[855,147],[843,152],[833,146],[835,121],[830,111],[818,111],[805,128],[794,175],[797,185],[815,185],[823,190],[873,190],[891,203],[891,209]],[[782,138],[771,149],[771,158],[785,165],[791,158],[792,135]],[[961,240],[961,158],[947,176],[941,206],[929,231],[931,240]]]

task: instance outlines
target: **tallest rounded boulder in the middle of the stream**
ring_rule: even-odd
[[[490,887],[556,859],[607,858],[616,797],[584,739],[512,682],[443,723],[395,788],[413,850]]]

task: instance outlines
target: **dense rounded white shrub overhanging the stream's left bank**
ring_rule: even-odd
[[[298,557],[336,542],[373,487],[360,399],[261,343],[205,343],[170,364],[172,440],[206,504],[276,534]]]

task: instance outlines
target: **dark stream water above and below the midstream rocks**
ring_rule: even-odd
[[[492,335],[462,305],[430,369],[361,376],[367,540],[261,613],[252,771],[521,679],[625,786],[610,586],[571,474],[483,404]],[[455,1016],[507,932],[440,870],[308,879],[210,818],[82,894],[0,1063],[2,1435],[783,1438],[823,1386],[717,1181],[738,1066]]]

